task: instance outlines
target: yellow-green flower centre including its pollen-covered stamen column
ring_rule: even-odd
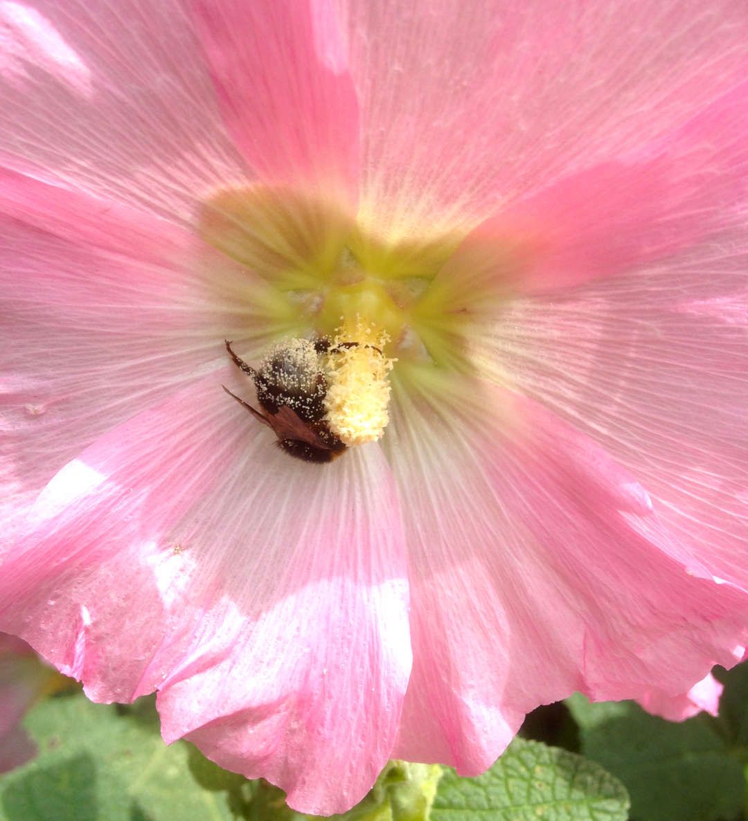
[[[327,339],[324,424],[346,445],[382,436],[390,375],[423,387],[475,369],[476,323],[502,297],[484,254],[455,255],[464,231],[383,238],[332,201],[261,185],[218,191],[199,218],[225,255],[206,252],[204,264],[208,303],[225,318],[219,337],[248,360],[281,338]]]

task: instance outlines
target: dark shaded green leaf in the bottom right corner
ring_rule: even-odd
[[[717,821],[740,809],[740,762],[709,716],[668,722],[631,701],[567,705],[580,726],[581,750],[621,779],[631,816],[642,821]]]

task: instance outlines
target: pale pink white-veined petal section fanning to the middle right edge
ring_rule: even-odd
[[[709,572],[748,589],[745,216],[626,277],[507,305],[474,339],[510,378],[603,445]]]

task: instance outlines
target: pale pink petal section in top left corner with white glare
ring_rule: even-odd
[[[183,5],[2,0],[2,163],[183,220],[246,178]]]

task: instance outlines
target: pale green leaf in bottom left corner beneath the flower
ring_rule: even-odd
[[[123,708],[58,696],[32,709],[25,728],[39,756],[0,777],[2,821],[236,819],[223,787],[190,774],[194,748],[158,736],[152,699]]]

